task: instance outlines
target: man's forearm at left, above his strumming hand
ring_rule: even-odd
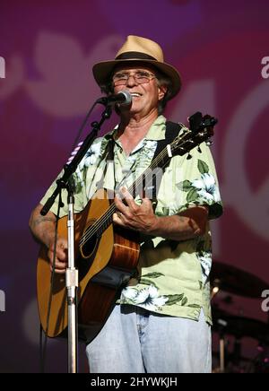
[[[48,212],[46,216],[40,214],[43,205],[39,204],[30,215],[30,231],[41,243],[49,247],[55,236],[56,216]]]

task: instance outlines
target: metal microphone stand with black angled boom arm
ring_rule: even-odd
[[[82,161],[82,158],[89,150],[91,143],[95,140],[100,131],[100,126],[103,122],[111,116],[112,109],[108,105],[108,101],[104,100],[103,102],[97,101],[106,106],[101,114],[100,122],[94,121],[91,123],[92,130],[91,133],[86,137],[85,141],[82,143],[81,148],[74,156],[73,161],[68,164],[65,164],[64,174],[62,178],[59,178],[56,181],[56,189],[53,192],[44,204],[43,208],[40,211],[42,216],[45,216],[50,210],[51,206],[56,200],[61,192],[62,188],[66,188],[68,191],[68,267],[65,274],[65,286],[67,290],[67,308],[68,308],[68,373],[77,372],[77,288],[78,288],[78,269],[75,267],[75,257],[74,257],[74,186],[72,175],[74,174],[75,169]],[[90,110],[91,112],[91,110]],[[90,112],[87,114],[89,116]],[[86,119],[87,119],[86,117]],[[87,123],[87,120],[84,121],[84,127]],[[53,283],[53,282],[51,282]]]

